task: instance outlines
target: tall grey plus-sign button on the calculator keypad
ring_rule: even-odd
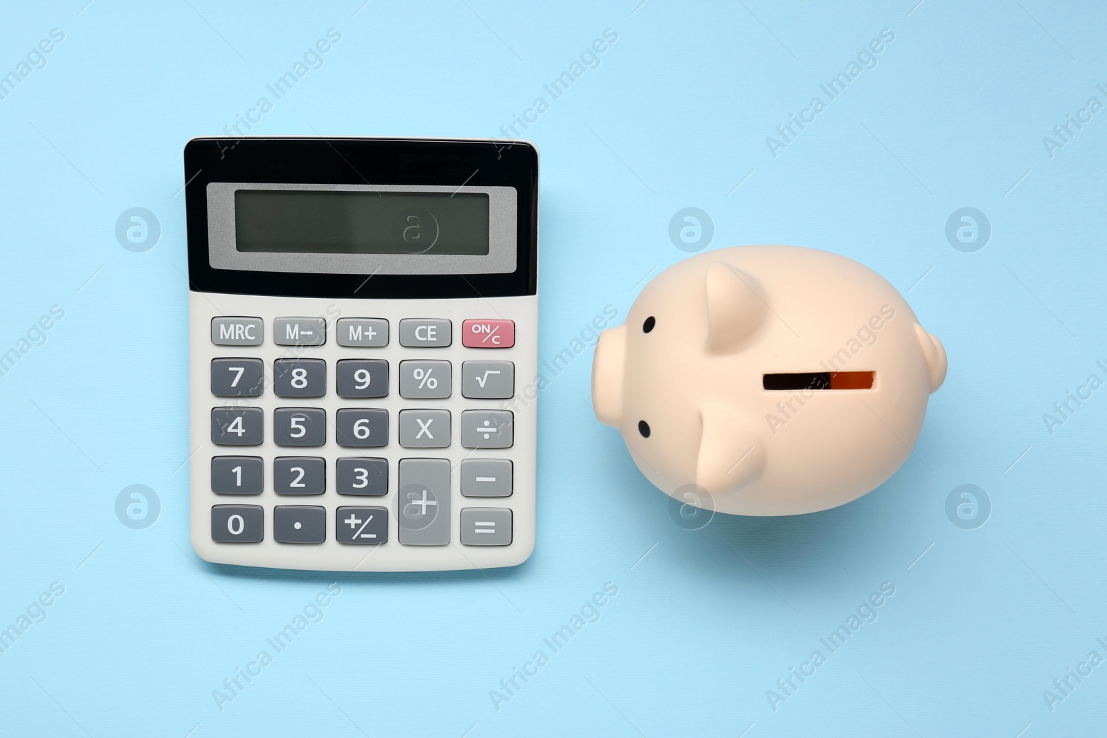
[[[449,460],[400,459],[396,506],[401,543],[449,543]]]

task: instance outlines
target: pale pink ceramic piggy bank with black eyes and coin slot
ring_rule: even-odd
[[[664,270],[592,364],[597,417],[642,474],[746,516],[845,505],[911,454],[945,350],[862,264],[742,246]]]

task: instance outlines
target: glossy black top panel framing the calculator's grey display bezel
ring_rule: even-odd
[[[185,146],[188,280],[196,292],[303,298],[451,299],[538,291],[538,150],[493,139],[194,138]],[[514,188],[514,271],[311,273],[216,268],[209,258],[208,186]],[[452,190],[453,191],[453,190]],[[445,270],[444,270],[445,271]]]

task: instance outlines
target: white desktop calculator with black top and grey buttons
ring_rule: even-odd
[[[196,553],[325,571],[525,561],[534,145],[194,138],[184,174]]]

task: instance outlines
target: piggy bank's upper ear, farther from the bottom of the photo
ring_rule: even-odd
[[[707,350],[742,347],[765,320],[766,305],[751,274],[716,261],[707,267]]]

